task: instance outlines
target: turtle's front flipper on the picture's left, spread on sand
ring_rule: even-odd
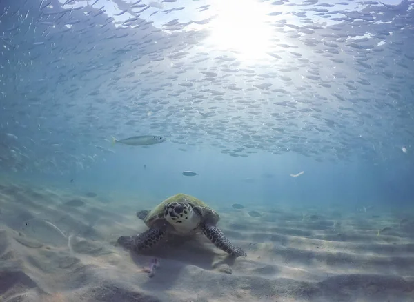
[[[150,228],[137,236],[121,236],[118,238],[119,245],[134,252],[149,250],[166,236],[166,230]]]

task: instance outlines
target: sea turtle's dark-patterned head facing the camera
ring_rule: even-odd
[[[168,203],[164,209],[164,217],[170,225],[179,230],[193,230],[199,224],[199,216],[189,203]]]

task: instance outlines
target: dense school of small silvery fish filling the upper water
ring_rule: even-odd
[[[0,168],[88,168],[137,129],[231,157],[410,156],[413,1],[251,2],[255,59],[210,43],[215,0],[1,1]]]

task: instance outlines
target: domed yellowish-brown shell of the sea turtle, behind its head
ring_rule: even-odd
[[[154,209],[151,210],[151,212],[148,213],[148,215],[144,219],[144,223],[148,226],[148,228],[151,228],[152,226],[155,226],[160,221],[164,221],[164,207],[167,203],[190,203],[193,205],[193,208],[195,209],[195,212],[201,212],[201,215],[204,219],[204,221],[215,225],[219,219],[219,213],[217,213],[215,210],[210,208],[206,203],[203,201],[197,199],[196,197],[193,197],[191,195],[187,194],[175,194],[172,197],[168,197],[168,199],[164,200],[163,202],[159,203]],[[198,211],[197,211],[198,210]]]

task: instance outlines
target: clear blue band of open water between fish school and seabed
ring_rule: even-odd
[[[46,174],[41,179],[68,189],[101,194],[115,190],[158,201],[186,192],[230,204],[277,205],[288,201],[307,206],[342,204],[350,209],[386,205],[398,210],[412,205],[413,169],[404,158],[400,163],[395,160],[380,165],[361,161],[320,163],[297,154],[275,156],[265,152],[232,158],[197,150],[200,148],[184,153],[168,142],[149,148],[116,145],[113,149],[115,154],[106,157],[106,163],[96,163],[90,170],[72,168],[66,175]],[[181,172],[185,170],[199,175],[184,177]],[[290,177],[301,171],[301,176]]]

